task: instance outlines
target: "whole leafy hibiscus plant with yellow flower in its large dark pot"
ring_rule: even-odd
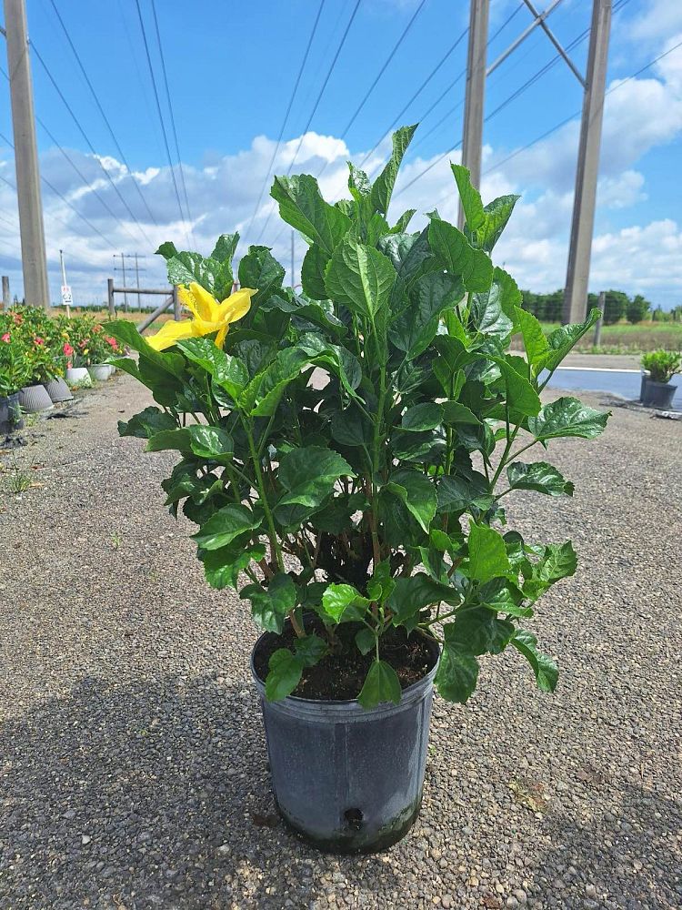
[[[177,451],[166,504],[196,523],[207,581],[239,591],[264,630],[252,670],[280,812],[347,852],[395,843],[416,818],[434,682],[466,702],[483,655],[509,648],[554,689],[527,624],[576,553],[507,528],[505,497],[571,495],[531,450],[593,439],[608,416],[540,400],[598,313],[546,338],[521,308],[491,260],[517,197],[484,207],[453,165],[464,231],[436,211],[416,231],[414,211],[388,220],[413,133],[396,132],[373,184],[351,165],[334,205],[314,177],[276,177],[280,216],[308,244],[301,293],[265,247],[234,276],[237,235],[207,258],[165,243],[193,318],[149,339],[109,325],[138,355],[116,364],[156,402],[120,432]]]

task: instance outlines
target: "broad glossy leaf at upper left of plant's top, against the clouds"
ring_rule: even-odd
[[[308,174],[275,177],[270,196],[279,203],[279,214],[286,223],[318,244],[327,256],[332,255],[350,227],[350,218],[325,202],[315,177]]]

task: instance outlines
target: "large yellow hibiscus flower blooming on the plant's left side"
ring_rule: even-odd
[[[193,281],[189,288],[178,288],[180,301],[192,313],[193,319],[181,319],[178,322],[171,319],[146,341],[155,350],[164,350],[176,341],[217,332],[216,347],[222,348],[230,323],[246,316],[254,294],[256,290],[252,288],[241,288],[218,303],[206,288]]]

